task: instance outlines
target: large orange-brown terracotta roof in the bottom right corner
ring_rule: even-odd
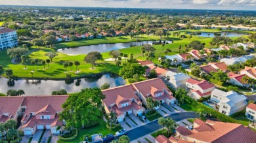
[[[256,133],[237,123],[224,123],[221,121],[210,121],[211,124],[204,123],[200,127],[195,127],[190,138],[196,138],[203,142],[254,142]]]

